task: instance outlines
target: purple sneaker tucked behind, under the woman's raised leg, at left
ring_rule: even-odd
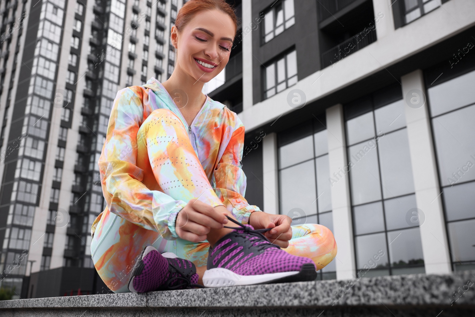
[[[129,278],[128,288],[134,293],[154,290],[203,287],[197,284],[198,274],[193,262],[176,254],[160,252],[152,246],[142,250]]]

